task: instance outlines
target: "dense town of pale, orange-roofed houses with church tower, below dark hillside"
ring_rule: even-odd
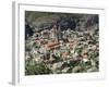
[[[98,26],[95,25],[95,27]],[[28,67],[43,64],[43,70],[50,71],[36,74],[98,72],[98,28],[85,32],[71,28],[61,30],[60,26],[53,25],[51,29],[36,32],[25,40],[25,60],[27,61],[25,64]],[[28,67],[25,69],[26,74],[29,75]],[[36,71],[38,67],[34,70]]]

